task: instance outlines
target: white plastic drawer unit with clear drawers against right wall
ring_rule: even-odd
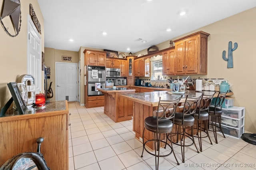
[[[240,138],[244,133],[244,115],[244,107],[222,108],[221,126],[224,134]],[[209,121],[212,123],[211,117]]]

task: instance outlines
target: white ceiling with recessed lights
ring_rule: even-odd
[[[79,51],[82,46],[128,53],[256,6],[256,0],[38,0],[38,3],[44,16],[45,47]],[[180,16],[181,11],[186,14]],[[167,32],[168,28],[171,31]],[[107,35],[102,35],[103,32]]]

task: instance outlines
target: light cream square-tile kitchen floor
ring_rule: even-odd
[[[142,143],[134,138],[132,120],[115,123],[104,114],[103,107],[86,109],[78,102],[68,103],[70,127],[69,170],[154,170],[154,156],[144,152]],[[212,141],[213,133],[210,132]],[[195,138],[198,146],[198,140]],[[185,163],[181,163],[180,146],[173,144],[174,155],[160,157],[160,170],[229,170],[256,169],[256,145],[242,139],[224,138],[218,134],[218,144],[203,138],[203,152],[194,146],[185,147]],[[199,148],[199,146],[198,146]],[[168,152],[161,148],[160,151]]]

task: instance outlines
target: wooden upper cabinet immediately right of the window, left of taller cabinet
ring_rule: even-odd
[[[163,52],[163,75],[174,75],[175,49]]]

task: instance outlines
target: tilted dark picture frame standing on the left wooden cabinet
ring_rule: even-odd
[[[20,115],[23,115],[27,107],[20,95],[20,90],[18,89],[17,83],[10,82],[10,83],[7,83],[7,86],[12,94],[12,99],[14,100],[14,103],[17,107],[18,112],[20,113]]]

